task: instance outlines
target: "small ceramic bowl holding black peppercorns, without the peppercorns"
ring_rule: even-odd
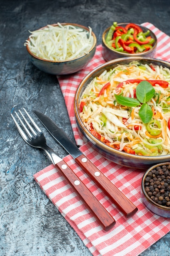
[[[141,196],[142,196],[142,201],[144,203],[144,205],[153,213],[161,216],[161,217],[166,217],[166,218],[170,218],[170,207],[166,207],[163,205],[160,205],[157,202],[154,202],[149,196],[148,193],[146,192],[146,177],[148,175],[148,173],[152,170],[157,170],[157,167],[160,166],[162,167],[163,165],[170,165],[170,162],[166,162],[166,163],[160,163],[160,164],[156,164],[152,167],[150,167],[146,173],[144,174],[143,178],[142,178],[142,186],[141,186]],[[169,184],[170,186],[170,184]],[[169,191],[170,194],[170,191]],[[159,201],[158,201],[159,202]]]

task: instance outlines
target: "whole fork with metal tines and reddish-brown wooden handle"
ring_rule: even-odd
[[[85,184],[78,178],[78,176],[72,171],[72,169],[60,158],[52,148],[47,146],[46,138],[37,126],[32,117],[23,108],[24,114],[21,110],[18,110],[19,114],[15,112],[15,115],[19,122],[15,119],[14,115],[11,113],[13,121],[17,126],[20,135],[30,146],[35,148],[43,149],[54,166],[64,177],[64,179],[70,184],[72,189],[78,194],[79,198],[84,202],[87,209],[92,213],[97,222],[105,230],[111,229],[115,225],[115,220],[111,214],[100,204],[97,198],[89,191]],[[25,117],[26,115],[26,117]],[[19,124],[20,123],[20,124]]]

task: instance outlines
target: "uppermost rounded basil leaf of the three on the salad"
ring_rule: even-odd
[[[155,94],[155,89],[148,81],[140,82],[136,87],[136,97],[141,103],[146,103]]]

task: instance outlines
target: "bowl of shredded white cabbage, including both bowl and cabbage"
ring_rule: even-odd
[[[29,32],[24,43],[28,55],[36,67],[49,74],[78,72],[96,51],[97,40],[91,27],[58,22]]]

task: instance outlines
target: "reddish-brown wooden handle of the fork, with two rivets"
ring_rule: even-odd
[[[55,167],[85,203],[87,209],[89,209],[101,227],[105,230],[111,229],[116,224],[116,221],[89,191],[85,184],[77,177],[74,171],[72,171],[63,160],[55,164]]]

